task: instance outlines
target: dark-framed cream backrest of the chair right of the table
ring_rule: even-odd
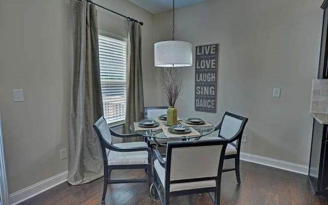
[[[219,135],[229,139],[230,142],[240,139],[248,118],[230,112],[223,115]],[[238,141],[237,141],[238,143]]]

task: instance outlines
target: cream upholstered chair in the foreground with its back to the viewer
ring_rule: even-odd
[[[168,142],[167,157],[154,151],[154,198],[170,204],[170,196],[215,193],[220,204],[223,156],[228,139]],[[163,190],[164,196],[160,190]]]

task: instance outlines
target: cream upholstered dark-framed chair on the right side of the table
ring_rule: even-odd
[[[229,139],[224,159],[235,159],[235,168],[223,169],[222,172],[235,171],[238,183],[240,183],[239,158],[241,137],[247,121],[248,118],[246,117],[226,112],[220,124],[215,128],[215,130],[219,130],[219,138]],[[218,137],[204,136],[200,140],[217,139]]]

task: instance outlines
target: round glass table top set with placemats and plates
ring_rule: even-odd
[[[151,121],[155,121],[156,125],[158,122],[159,125],[147,128]],[[183,140],[208,135],[215,130],[215,127],[209,122],[206,125],[189,125],[186,120],[179,120],[177,126],[167,126],[166,121],[149,118],[134,122],[130,125],[130,130],[144,137]]]

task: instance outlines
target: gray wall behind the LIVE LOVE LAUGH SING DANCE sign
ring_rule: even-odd
[[[194,111],[195,67],[181,69],[179,116],[217,124],[249,118],[245,153],[308,165],[311,82],[317,76],[322,0],[209,0],[176,11],[176,39],[220,44],[217,113]],[[171,38],[171,12],[155,15],[155,41]],[[195,52],[195,50],[193,51]],[[281,98],[273,98],[281,88]],[[165,98],[163,98],[165,100]]]

